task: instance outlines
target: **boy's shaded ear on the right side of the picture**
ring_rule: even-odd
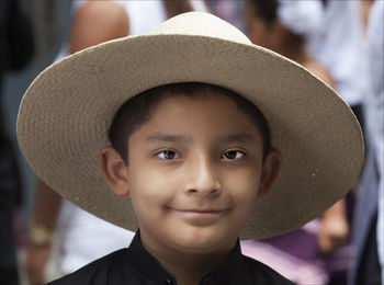
[[[266,196],[280,173],[281,155],[272,149],[262,166],[258,198]]]

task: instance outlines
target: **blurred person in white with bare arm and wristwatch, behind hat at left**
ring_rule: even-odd
[[[126,35],[148,33],[179,13],[205,11],[202,0],[182,1],[75,1],[68,44],[59,57]],[[106,253],[126,248],[133,232],[109,224],[68,201],[63,201],[41,180],[31,221],[25,267],[33,285],[58,277],[46,276],[55,230],[58,237],[58,275],[69,274]],[[114,233],[111,239],[111,231]],[[108,238],[105,238],[108,235]]]

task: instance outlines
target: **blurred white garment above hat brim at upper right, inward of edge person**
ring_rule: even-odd
[[[308,37],[309,53],[327,68],[336,89],[350,106],[361,103],[364,76],[359,72],[363,54],[360,1],[329,0],[321,29]]]

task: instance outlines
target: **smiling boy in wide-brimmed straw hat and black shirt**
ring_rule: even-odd
[[[128,249],[54,284],[291,284],[241,255],[238,236],[313,219],[363,156],[329,87],[199,12],[48,68],[24,95],[18,136],[54,190],[139,228]]]

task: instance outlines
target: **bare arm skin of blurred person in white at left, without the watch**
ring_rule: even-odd
[[[128,19],[125,11],[112,1],[91,0],[77,12],[70,32],[69,53],[100,44],[128,34]],[[32,220],[54,231],[61,197],[43,181],[37,181],[36,201]],[[50,256],[52,244],[26,246],[25,269],[32,285],[45,284],[45,266]]]

